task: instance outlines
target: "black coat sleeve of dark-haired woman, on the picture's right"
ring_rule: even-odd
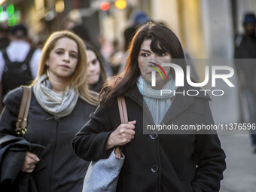
[[[213,122],[209,102],[206,102],[204,121]],[[221,148],[217,133],[197,135],[196,140],[197,174],[192,183],[194,191],[219,191],[223,172],[226,169],[226,155]]]

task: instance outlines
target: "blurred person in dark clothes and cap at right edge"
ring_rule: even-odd
[[[256,17],[246,13],[243,19],[244,33],[236,36],[234,58],[242,93],[240,99],[247,103],[249,122],[256,123]],[[253,153],[256,154],[256,133],[251,132]]]

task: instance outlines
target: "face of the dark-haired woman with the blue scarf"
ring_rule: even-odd
[[[156,87],[152,87],[155,90],[159,90],[163,87],[164,84],[166,84],[167,80],[165,78],[165,75],[163,75],[163,72],[161,69],[157,67],[157,65],[161,66],[163,62],[171,62],[172,56],[170,53],[154,53],[151,50],[151,39],[146,39],[142,42],[141,48],[139,50],[139,56],[138,56],[138,62],[139,62],[139,70],[142,74],[142,78],[151,85],[151,76],[152,72],[154,71],[156,74]],[[154,62],[157,65],[154,65],[150,62]],[[163,79],[161,75],[156,71],[158,69],[161,74],[163,75]],[[168,77],[170,67],[162,67],[163,70],[166,72],[166,76]]]

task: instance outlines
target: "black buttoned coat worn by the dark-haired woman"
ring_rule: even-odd
[[[190,87],[191,88],[191,87]],[[194,89],[194,88],[193,88]],[[181,91],[179,88],[178,91]],[[226,168],[225,154],[218,136],[143,134],[142,127],[152,123],[150,112],[136,86],[124,94],[129,121],[136,120],[135,138],[123,148],[125,162],[117,191],[218,191]],[[163,119],[165,124],[213,123],[209,96],[177,94]],[[117,100],[97,108],[91,120],[73,139],[75,153],[84,160],[108,158],[108,137],[120,125]]]

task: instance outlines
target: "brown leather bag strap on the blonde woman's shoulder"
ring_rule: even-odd
[[[23,86],[23,98],[20,103],[20,111],[18,115],[18,120],[16,123],[16,133],[20,136],[24,136],[27,131],[28,121],[27,117],[29,114],[29,106],[31,102],[32,88]]]

